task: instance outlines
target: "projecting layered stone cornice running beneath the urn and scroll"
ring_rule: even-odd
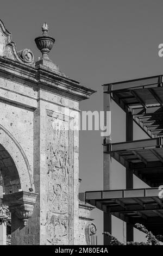
[[[32,67],[0,57],[0,76],[1,73],[32,82],[42,89],[77,101],[88,99],[91,94],[96,92],[80,85],[77,81],[55,73],[41,64]]]

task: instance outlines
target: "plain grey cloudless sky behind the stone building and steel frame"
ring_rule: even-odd
[[[161,0],[1,0],[0,18],[12,32],[17,50],[30,48],[35,60],[40,52],[34,38],[46,21],[56,39],[50,56],[53,62],[66,75],[97,90],[80,108],[102,110],[102,84],[163,73],[163,57],[158,57],[158,45],[163,43],[162,8]],[[124,141],[125,115],[115,104],[112,126],[112,141]],[[134,129],[139,134],[135,139],[145,138]],[[103,188],[101,144],[99,132],[80,133],[81,191]],[[124,188],[124,168],[114,161],[112,165],[112,188]],[[144,185],[135,179],[134,186]],[[99,235],[102,214],[93,211]],[[116,223],[114,235],[121,239],[122,223]]]

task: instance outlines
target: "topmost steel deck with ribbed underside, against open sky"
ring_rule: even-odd
[[[105,84],[104,93],[126,112],[152,138],[163,135],[162,75]]]

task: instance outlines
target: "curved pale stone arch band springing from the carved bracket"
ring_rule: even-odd
[[[32,170],[20,144],[11,133],[0,125],[0,168],[5,193],[18,190],[34,192]]]

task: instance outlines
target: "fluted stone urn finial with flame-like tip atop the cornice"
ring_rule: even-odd
[[[52,38],[51,36],[48,36],[48,25],[47,23],[43,23],[42,25],[42,35],[35,38],[35,43],[37,48],[41,51],[42,53],[42,59],[43,60],[48,60],[49,59],[49,51],[51,51],[53,45],[54,45],[55,39]]]

